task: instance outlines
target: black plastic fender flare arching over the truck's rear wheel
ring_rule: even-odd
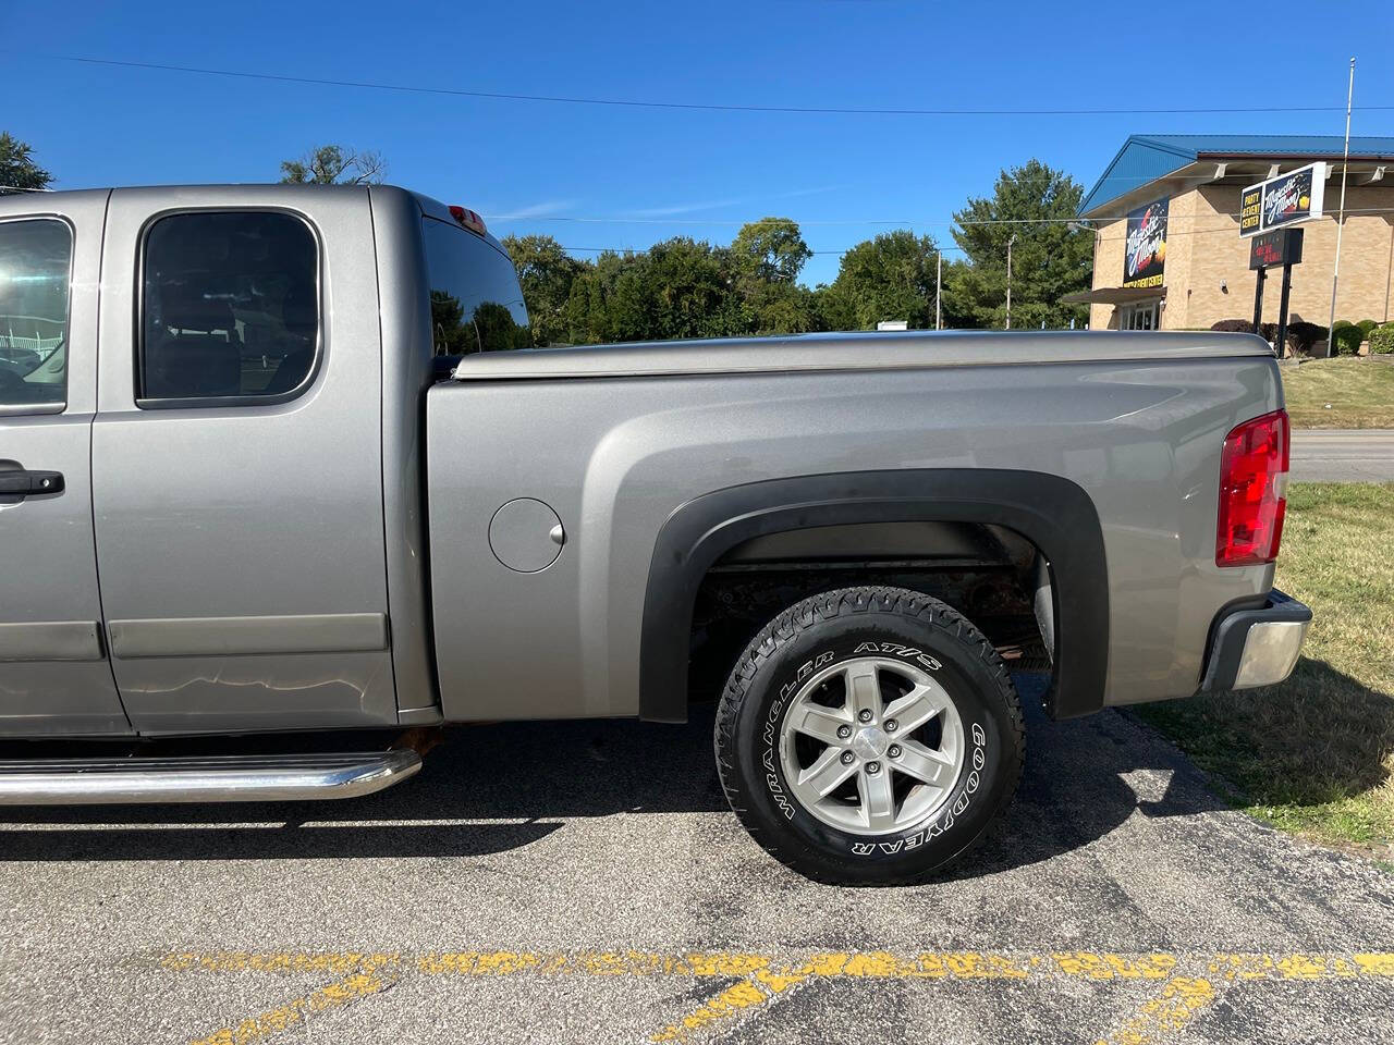
[[[680,504],[654,542],[644,594],[638,715],[687,720],[697,589],[736,545],[852,522],[987,522],[1040,549],[1051,567],[1055,718],[1098,711],[1108,677],[1108,563],[1089,493],[1058,475],[997,468],[903,468],[765,479]]]

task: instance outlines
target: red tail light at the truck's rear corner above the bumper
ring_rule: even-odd
[[[1216,566],[1259,566],[1278,557],[1288,444],[1285,410],[1245,421],[1224,438]]]

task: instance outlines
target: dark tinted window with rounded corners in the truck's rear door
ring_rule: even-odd
[[[141,398],[265,398],[315,362],[315,237],[291,215],[162,217],[145,238]]]

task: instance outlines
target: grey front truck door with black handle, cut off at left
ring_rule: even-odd
[[[131,732],[102,642],[92,549],[106,198],[0,205],[28,212],[0,210],[0,736]]]

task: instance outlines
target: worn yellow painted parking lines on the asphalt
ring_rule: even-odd
[[[650,1035],[651,1041],[686,1041],[723,1030],[732,1021],[763,1012],[813,980],[896,981],[1157,981],[1160,992],[1147,1002],[1110,1044],[1157,1041],[1158,1034],[1184,1025],[1214,1000],[1214,982],[1249,980],[1323,981],[1352,977],[1394,978],[1394,952],[1369,953],[1117,953],[1117,952],[829,952],[776,957],[754,952],[637,952],[637,950],[453,950],[427,954],[400,952],[180,952],[159,959],[170,973],[307,974],[336,977],[335,982],[286,1005],[250,1016],[210,1034],[191,1038],[195,1045],[254,1045],[304,1023],[307,1014],[342,1009],[379,993],[400,977],[512,978],[512,977],[676,977],[736,980]],[[1206,978],[1177,975],[1178,968],[1204,970]],[[1129,1037],[1131,1035],[1131,1037]],[[1151,1035],[1151,1037],[1149,1037]]]

